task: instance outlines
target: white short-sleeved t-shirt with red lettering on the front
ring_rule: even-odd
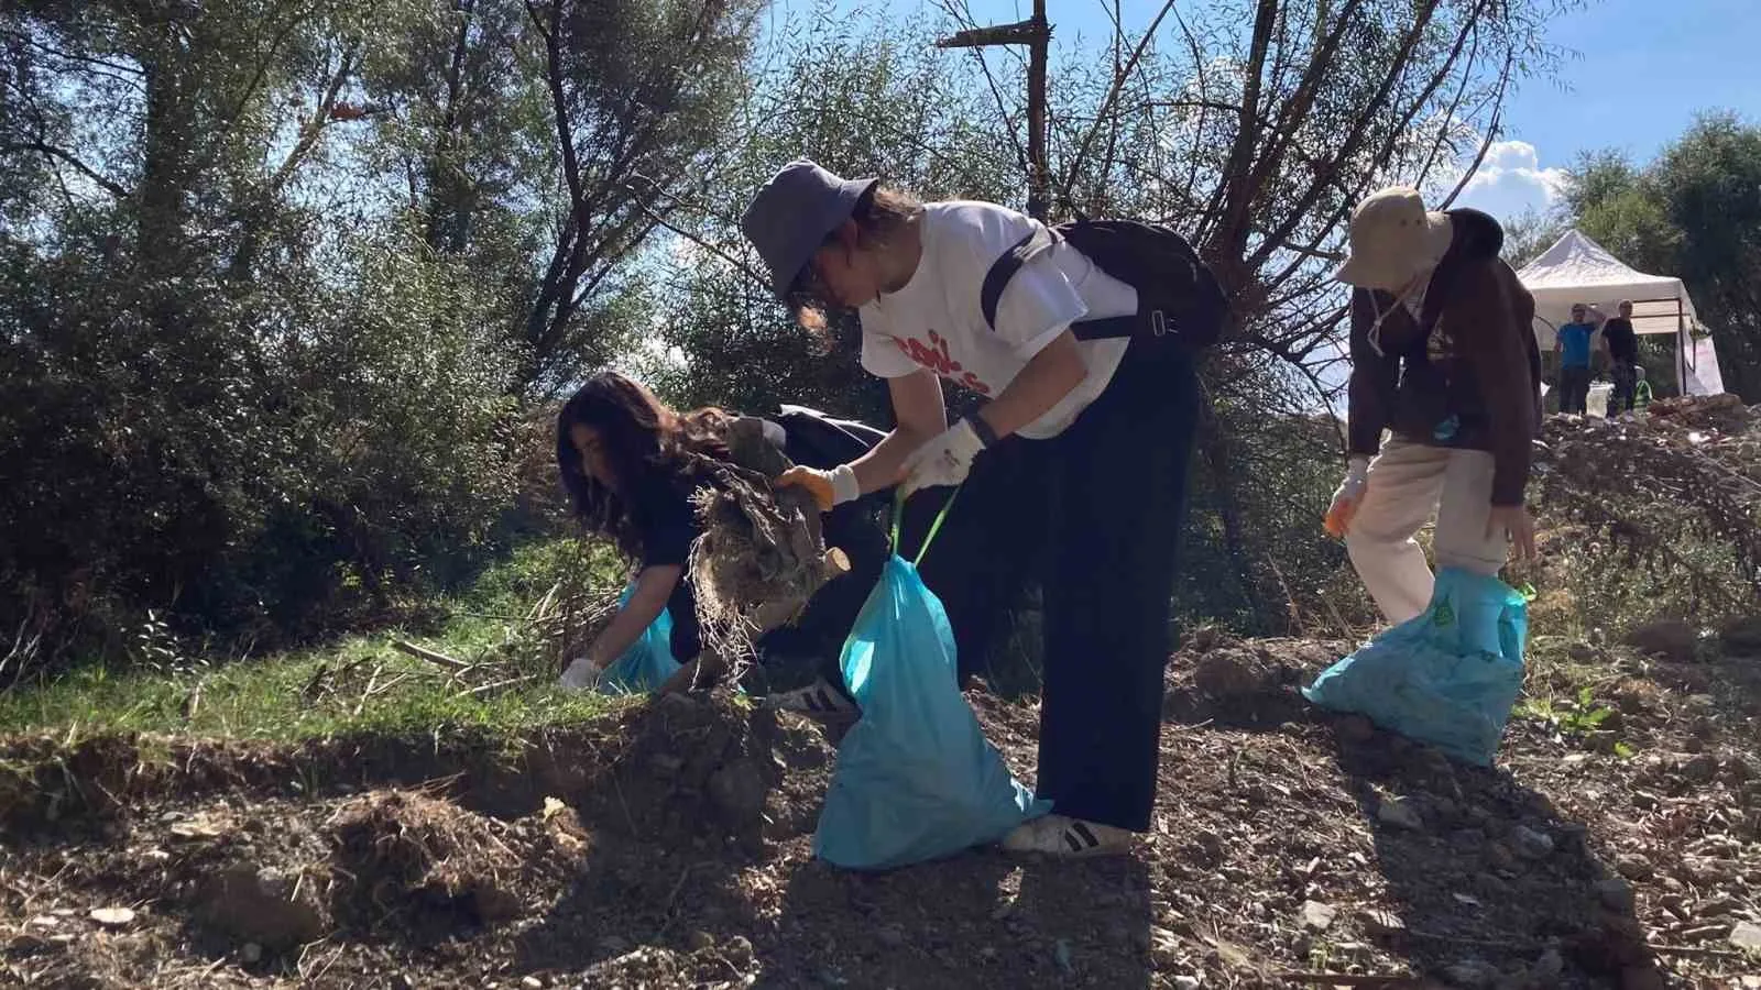
[[[984,322],[984,275],[1037,222],[991,203],[930,203],[921,225],[923,261],[898,292],[861,307],[863,368],[898,379],[928,368],[995,398],[1035,354],[1081,319],[1138,312],[1138,291],[1101,271],[1065,241],[1016,271]],[[1023,426],[1028,439],[1057,437],[1094,402],[1125,356],[1129,340],[1078,344],[1088,375],[1044,416]]]

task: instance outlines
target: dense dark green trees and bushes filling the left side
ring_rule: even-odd
[[[0,12],[0,685],[419,617],[555,525],[527,403],[645,326],[754,12]]]

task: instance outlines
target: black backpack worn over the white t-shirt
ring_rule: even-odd
[[[1199,252],[1175,231],[1138,220],[1071,220],[1057,227],[1034,224],[984,275],[984,322],[997,328],[997,303],[1023,264],[1060,240],[1083,252],[1101,271],[1138,291],[1134,315],[1071,324],[1078,340],[1157,336],[1197,351],[1217,344],[1229,299]]]

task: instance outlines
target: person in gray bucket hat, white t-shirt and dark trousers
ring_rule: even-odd
[[[757,190],[741,229],[801,326],[824,333],[828,308],[856,312],[861,365],[886,379],[896,421],[861,458],[778,483],[812,491],[826,511],[895,484],[909,495],[967,483],[947,530],[983,550],[944,548],[928,564],[954,571],[923,574],[947,608],[963,673],[1007,632],[1004,599],[1043,567],[1037,794],[1051,814],[1004,847],[1129,851],[1155,802],[1199,417],[1192,352],[1162,333],[1092,335],[1141,317],[1138,291],[1065,238],[986,294],[998,259],[1046,233],[1006,206],[919,203],[796,160]],[[977,412],[949,425],[944,380],[977,396]]]

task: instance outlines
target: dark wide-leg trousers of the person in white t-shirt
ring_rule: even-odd
[[[962,673],[1037,573],[1046,664],[1037,791],[1058,814],[1150,826],[1197,414],[1190,359],[1134,340],[1069,430],[1011,439],[977,458],[923,562],[925,583],[947,608]],[[914,499],[926,504],[910,507],[912,532],[947,491]]]

